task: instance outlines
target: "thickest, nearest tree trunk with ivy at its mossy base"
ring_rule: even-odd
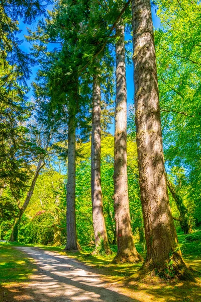
[[[132,1],[135,122],[147,258],[145,270],[186,277],[169,205],[149,0]],[[170,261],[171,260],[171,261]]]

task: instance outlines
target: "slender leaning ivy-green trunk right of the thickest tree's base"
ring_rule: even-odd
[[[170,193],[172,194],[172,197],[176,203],[177,209],[180,214],[180,226],[184,234],[189,234],[192,232],[191,224],[189,220],[189,213],[187,208],[185,207],[183,200],[181,196],[176,192],[175,186],[167,179],[167,186],[170,190]]]

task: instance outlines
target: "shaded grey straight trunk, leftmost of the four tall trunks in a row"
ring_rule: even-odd
[[[75,220],[75,118],[76,104],[69,103],[68,110],[68,181],[66,185],[66,228],[67,243],[65,250],[78,250],[76,220]]]

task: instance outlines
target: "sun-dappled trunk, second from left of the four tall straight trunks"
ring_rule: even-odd
[[[93,230],[95,237],[94,253],[103,251],[106,254],[111,254],[106,232],[100,179],[100,110],[100,84],[98,75],[94,75],[91,132],[91,201]]]

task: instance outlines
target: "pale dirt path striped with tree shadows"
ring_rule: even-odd
[[[34,302],[139,302],[107,285],[93,269],[56,252],[17,247],[35,259],[38,272],[26,288]]]

